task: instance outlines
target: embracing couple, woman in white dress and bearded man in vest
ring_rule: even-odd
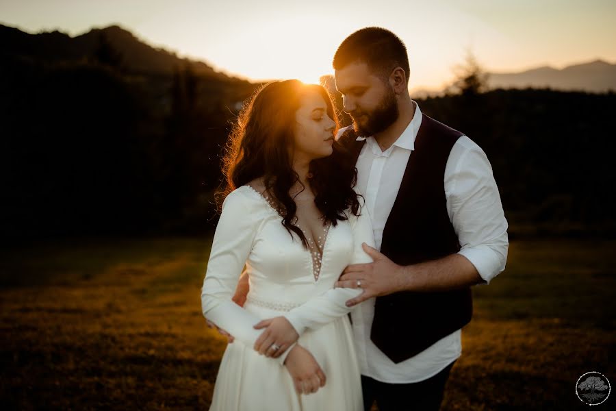
[[[333,69],[351,126],[287,80],[231,132],[201,292],[233,341],[211,410],[438,410],[470,288],[504,270],[490,163],[411,99],[400,38],[361,29]]]

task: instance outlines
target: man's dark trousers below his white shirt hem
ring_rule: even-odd
[[[376,400],[378,411],[438,411],[443,401],[445,383],[456,361],[437,375],[410,384],[388,384],[362,375],[363,409],[370,411]]]

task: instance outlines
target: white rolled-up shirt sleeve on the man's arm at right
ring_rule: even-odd
[[[487,155],[467,136],[461,136],[452,148],[444,183],[459,254],[489,284],[505,268],[509,225]]]

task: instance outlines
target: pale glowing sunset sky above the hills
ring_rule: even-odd
[[[318,82],[348,34],[370,25],[407,45],[410,88],[440,88],[472,50],[489,71],[616,62],[616,1],[0,0],[0,23],[77,36],[118,24],[155,47],[252,80]]]

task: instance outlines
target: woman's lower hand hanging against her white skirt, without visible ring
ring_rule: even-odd
[[[325,386],[325,373],[310,351],[296,344],[285,359],[287,371],[293,378],[298,394],[316,393]]]

